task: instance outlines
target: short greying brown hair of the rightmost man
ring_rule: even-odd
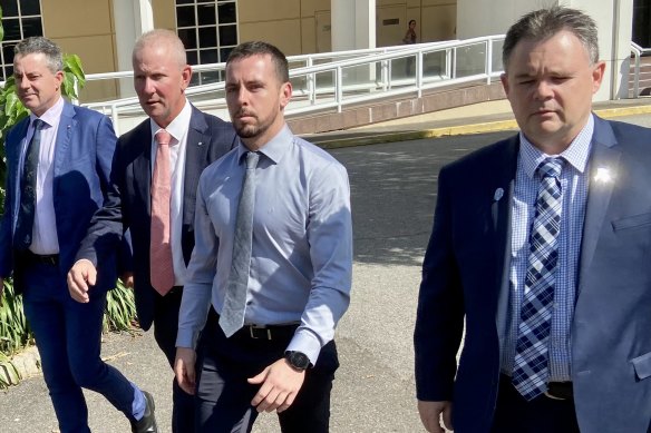
[[[599,37],[594,20],[577,9],[553,6],[529,12],[511,26],[502,48],[504,70],[508,68],[511,55],[519,41],[544,41],[563,30],[572,32],[581,41],[592,65],[599,61]]]

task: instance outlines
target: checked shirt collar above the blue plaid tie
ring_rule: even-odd
[[[558,155],[581,174],[585,171],[585,167],[587,166],[593,131],[594,118],[593,115],[590,115],[587,118],[587,124],[585,124],[583,129],[581,129],[570,146],[563,150],[561,155]],[[533,179],[534,174],[536,173],[536,168],[538,168],[541,163],[544,159],[554,156],[547,155],[532,145],[532,142],[527,140],[522,131],[519,132],[519,159],[523,164],[523,168],[526,175]]]

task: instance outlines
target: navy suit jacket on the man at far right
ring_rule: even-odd
[[[444,167],[415,329],[419,400],[454,403],[455,432],[488,432],[508,302],[517,136]],[[582,433],[651,426],[651,130],[595,117],[572,322]],[[596,181],[608,167],[613,181]],[[495,200],[495,190],[504,197]],[[466,323],[464,348],[456,353]]]

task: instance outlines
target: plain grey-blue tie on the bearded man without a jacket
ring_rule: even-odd
[[[255,201],[255,167],[260,155],[246,154],[246,175],[242,184],[242,195],[237,205],[235,219],[235,238],[231,274],[226,283],[226,297],[220,315],[220,326],[230,337],[244,325],[246,289],[249,288],[249,269],[251,267],[251,246],[253,242],[253,204]]]

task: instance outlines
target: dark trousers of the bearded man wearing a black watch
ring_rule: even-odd
[[[259,385],[246,378],[282,358],[291,335],[280,339],[253,339],[245,332],[226,338],[211,309],[200,348],[196,432],[251,432],[258,416],[251,400]],[[334,342],[328,343],[293,404],[279,414],[283,433],[327,433],[330,423],[330,392],[339,366]]]

